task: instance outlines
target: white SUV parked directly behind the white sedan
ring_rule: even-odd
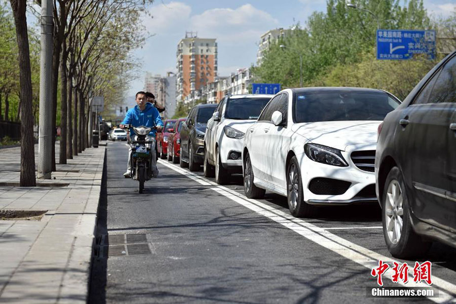
[[[204,175],[218,184],[231,173],[242,173],[241,151],[247,128],[274,95],[226,95],[207,122],[204,139]]]

